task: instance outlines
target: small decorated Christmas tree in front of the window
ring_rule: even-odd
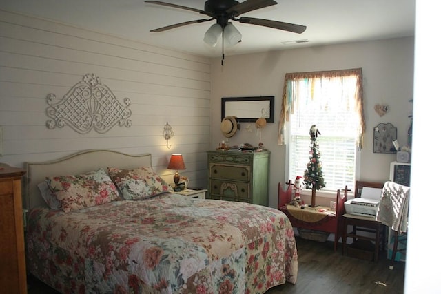
[[[311,206],[316,206],[316,190],[325,187],[325,179],[323,178],[322,164],[320,163],[320,151],[318,149],[317,136],[320,134],[316,125],[312,125],[309,129],[311,136],[311,150],[309,151],[309,162],[305,169],[304,185],[306,189],[312,189]]]

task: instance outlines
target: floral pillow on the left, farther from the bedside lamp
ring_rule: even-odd
[[[76,176],[47,178],[65,212],[105,204],[119,200],[118,189],[104,169]]]

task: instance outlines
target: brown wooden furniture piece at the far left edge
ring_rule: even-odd
[[[0,163],[0,292],[2,293],[28,292],[21,205],[21,177],[24,174],[24,169]]]

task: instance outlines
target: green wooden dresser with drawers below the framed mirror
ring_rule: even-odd
[[[269,151],[207,151],[208,199],[268,205]]]

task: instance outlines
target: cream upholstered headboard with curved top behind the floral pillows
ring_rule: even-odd
[[[86,150],[57,160],[45,162],[25,162],[25,201],[26,209],[46,206],[37,185],[47,176],[65,176],[68,174],[81,174],[102,167],[120,167],[134,169],[136,167],[151,167],[152,155],[123,154],[112,150]]]

